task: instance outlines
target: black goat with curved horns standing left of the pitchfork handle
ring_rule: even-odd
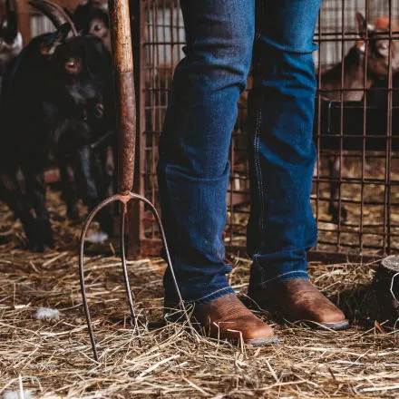
[[[56,31],[35,37],[5,75],[0,198],[21,219],[29,247],[43,250],[54,245],[44,186],[51,155],[62,170],[67,202],[81,196],[92,207],[106,195],[101,192],[106,185],[99,181],[106,172],[92,170],[87,145],[114,129],[112,64],[101,39],[76,34],[61,7],[44,0],[32,5],[49,16]],[[74,188],[65,178],[68,165],[73,165],[83,194],[71,193]],[[25,190],[16,179],[19,169]],[[108,210],[99,221],[103,230],[112,230]]]

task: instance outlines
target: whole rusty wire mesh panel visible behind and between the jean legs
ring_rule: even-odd
[[[158,141],[172,73],[184,56],[184,29],[177,0],[141,2],[141,13],[141,190],[159,206]],[[362,24],[361,15],[368,26]],[[392,73],[395,45],[399,45],[399,29],[394,23],[398,17],[399,5],[394,0],[323,2],[314,54],[319,87],[314,131],[318,161],[311,196],[319,228],[316,250],[382,255],[399,246],[395,152],[395,131],[399,129],[395,87],[399,87],[399,79]],[[381,45],[388,50],[379,48]],[[346,57],[351,50],[357,58]],[[383,65],[383,59],[384,67],[371,67],[370,60]],[[335,86],[331,88],[328,71],[334,67]],[[250,86],[248,78],[248,90]],[[224,240],[233,248],[245,248],[249,215],[247,96],[248,91],[238,101],[229,153]],[[141,240],[155,243],[155,221],[146,209],[141,210]],[[145,248],[151,252],[151,245]]]

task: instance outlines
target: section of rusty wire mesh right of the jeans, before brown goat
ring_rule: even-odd
[[[397,2],[388,0],[330,0],[320,13],[312,194],[317,249],[386,254],[398,247],[399,169],[393,151],[399,81],[390,72],[398,56],[397,16]]]

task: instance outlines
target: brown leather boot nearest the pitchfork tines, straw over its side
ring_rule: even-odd
[[[273,329],[255,316],[235,294],[196,305],[192,318],[205,336],[220,340],[265,346],[277,343]]]

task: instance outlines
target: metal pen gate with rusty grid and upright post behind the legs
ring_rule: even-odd
[[[183,20],[178,0],[146,0],[138,2],[140,8],[140,179],[136,189],[159,205],[156,181],[158,161],[158,141],[161,126],[169,99],[170,82],[173,70],[183,57]],[[372,23],[382,15],[390,16],[392,23],[385,32],[390,45],[399,41],[399,32],[394,30],[394,20],[399,18],[399,5],[394,0],[325,0],[323,2],[317,27],[315,42],[319,45],[315,52],[316,73],[339,63],[350,47],[360,39],[355,29],[355,13],[360,12]],[[137,21],[137,20],[136,20]],[[137,21],[138,22],[138,21]],[[368,54],[369,38],[365,39],[365,54]],[[330,256],[342,254],[344,257],[384,256],[399,249],[399,161],[393,150],[395,135],[399,133],[399,102],[394,103],[394,76],[386,78],[384,124],[377,126],[379,131],[367,131],[369,124],[366,95],[362,102],[353,106],[344,102],[332,102],[329,111],[316,111],[315,140],[318,162],[315,169],[314,187],[311,202],[314,209],[319,238],[312,254]],[[397,81],[399,82],[399,80]],[[320,83],[320,82],[319,82]],[[341,87],[343,96],[346,87]],[[361,88],[365,92],[365,87]],[[320,105],[322,92],[316,99]],[[399,97],[399,96],[398,96]],[[245,251],[246,223],[249,213],[248,161],[246,157],[247,123],[245,110],[246,94],[238,101],[238,122],[232,134],[230,147],[231,173],[228,192],[228,219],[224,241],[229,249]],[[381,112],[381,110],[380,110]],[[345,116],[346,115],[346,116]],[[360,143],[355,151],[345,149],[345,141],[351,132],[345,131],[345,120],[358,118]],[[326,121],[327,119],[327,121]],[[395,122],[395,119],[398,122]],[[327,130],[325,126],[328,126]],[[331,131],[335,129],[335,131]],[[320,146],[326,135],[333,135],[337,148],[324,149]],[[378,137],[384,141],[384,148],[370,149],[369,141]],[[398,146],[399,147],[399,146]],[[399,150],[399,148],[398,148]],[[328,174],[328,162],[337,157],[339,176],[332,179]],[[347,217],[333,219],[328,214],[329,186],[336,183],[338,195],[336,206],[345,207]],[[338,208],[340,209],[340,208]],[[159,254],[161,241],[156,222],[143,205],[139,210],[140,223],[131,223],[131,244],[140,244],[142,254]],[[133,226],[138,226],[138,229]],[[134,242],[132,242],[134,241]]]

